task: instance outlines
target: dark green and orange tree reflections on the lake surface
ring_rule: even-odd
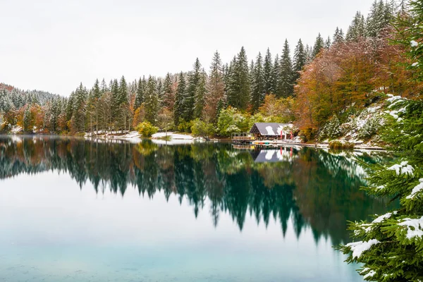
[[[297,236],[311,228],[316,240],[323,235],[335,244],[348,241],[347,220],[385,209],[383,201],[358,189],[364,183],[351,158],[308,148],[295,150],[290,161],[269,164],[255,163],[250,152],[228,144],[159,146],[34,137],[0,139],[0,153],[0,178],[64,171],[81,188],[90,182],[97,192],[125,195],[128,187],[136,187],[148,197],[159,191],[166,199],[178,195],[195,216],[208,199],[215,226],[220,212],[228,212],[242,230],[248,213],[266,226],[274,218],[285,235],[292,219]]]

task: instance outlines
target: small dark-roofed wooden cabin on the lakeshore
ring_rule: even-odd
[[[291,133],[290,123],[255,123],[252,125],[250,133],[255,140],[278,140],[288,139]]]

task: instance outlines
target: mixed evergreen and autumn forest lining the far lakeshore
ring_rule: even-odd
[[[312,45],[299,39],[292,53],[287,40],[281,54],[267,49],[251,60],[244,47],[228,63],[216,51],[207,71],[195,59],[191,71],[164,78],[81,83],[68,98],[0,85],[0,129],[83,135],[142,125],[226,137],[267,121],[293,122],[303,140],[314,140],[329,121],[347,121],[386,93],[419,98],[423,84],[412,80],[392,25],[407,13],[404,1],[375,0],[345,33],[336,27]]]

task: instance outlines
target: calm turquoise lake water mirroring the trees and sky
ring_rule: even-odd
[[[355,157],[0,137],[0,281],[362,281],[332,246],[388,200]]]

